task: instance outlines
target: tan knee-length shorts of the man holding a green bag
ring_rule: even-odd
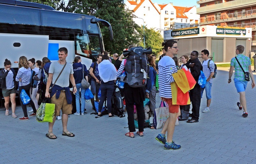
[[[60,116],[60,109],[62,114],[72,114],[72,104],[68,104],[65,91],[60,92],[59,99],[56,99],[56,93],[52,96],[51,103],[55,104],[55,116]]]

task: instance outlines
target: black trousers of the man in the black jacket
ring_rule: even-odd
[[[201,103],[201,90],[198,84],[190,90],[190,101],[192,103],[192,119],[198,120]]]

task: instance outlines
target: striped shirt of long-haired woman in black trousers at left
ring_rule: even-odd
[[[22,82],[19,81],[19,78],[22,79]],[[30,84],[30,78],[31,78],[31,69],[28,68],[20,68],[18,70],[17,76],[16,76],[16,81],[19,81],[19,86],[26,86]]]

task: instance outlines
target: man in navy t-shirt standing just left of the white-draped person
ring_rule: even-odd
[[[96,96],[96,101],[98,101],[98,102],[100,101],[98,99],[97,95],[98,95],[98,92],[99,92],[99,89],[100,89],[100,81],[101,81],[101,78],[100,78],[100,75],[99,75],[99,70],[98,70],[98,64],[101,62],[101,58],[102,58],[102,54],[99,54],[97,56],[97,62],[91,63],[91,66],[90,66],[91,92],[94,95],[94,98],[91,99],[91,104],[93,105],[93,107],[94,107],[95,96]],[[96,64],[95,69],[93,69],[94,64]]]

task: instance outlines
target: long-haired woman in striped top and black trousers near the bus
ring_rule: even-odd
[[[19,81],[19,101],[24,113],[24,117],[19,118],[19,120],[28,120],[27,106],[22,103],[22,100],[20,98],[20,93],[22,89],[24,89],[30,98],[30,94],[29,94],[30,78],[31,78],[31,69],[28,66],[28,60],[25,56],[21,56],[19,58],[19,70],[15,78],[16,81]],[[33,109],[33,113],[29,116],[36,116],[37,109],[35,109],[35,104],[33,103],[33,101],[30,101],[30,105]]]

